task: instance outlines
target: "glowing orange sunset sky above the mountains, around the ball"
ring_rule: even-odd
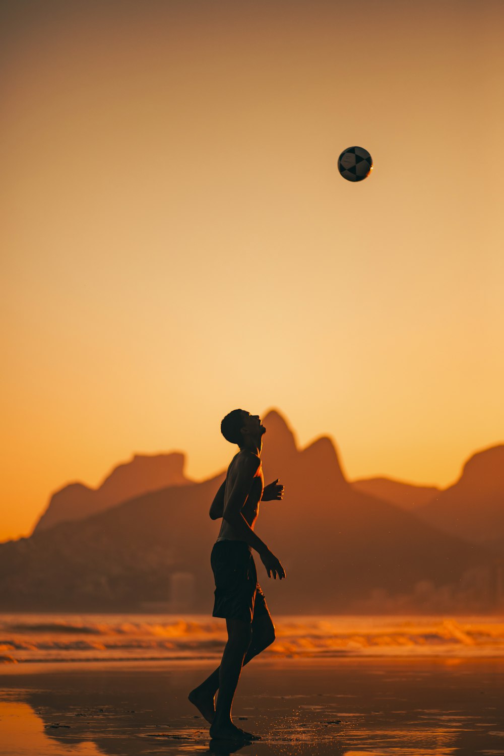
[[[498,0],[2,3],[0,540],[135,452],[223,469],[234,407],[331,435],[349,479],[444,487],[502,443],[503,28]]]

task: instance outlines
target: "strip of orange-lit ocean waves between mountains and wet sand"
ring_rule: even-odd
[[[261,658],[504,657],[504,618],[278,616]],[[0,615],[0,662],[219,658],[224,619],[206,615]]]

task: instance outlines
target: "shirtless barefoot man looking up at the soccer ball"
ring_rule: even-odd
[[[210,722],[212,738],[260,739],[233,724],[231,706],[243,665],[275,639],[275,627],[257,581],[252,549],[261,557],[268,578],[286,577],[280,560],[254,532],[259,502],[280,500],[283,485],[277,479],[264,487],[261,450],[266,429],[258,415],[233,410],[222,420],[221,432],[227,441],[240,447],[210,507],[212,519],[222,517],[210,556],[215,577],[212,616],[226,619],[227,643],[221,665],[191,690],[188,698]]]

